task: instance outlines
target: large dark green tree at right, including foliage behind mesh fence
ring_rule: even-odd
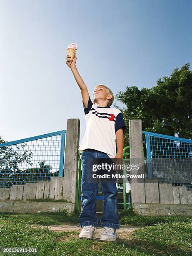
[[[157,79],[157,85],[152,88],[142,87],[140,90],[136,86],[125,87],[124,92],[119,92],[116,95],[117,100],[126,104],[126,108],[118,108],[124,117],[125,125],[129,127],[130,119],[141,119],[142,130],[153,133],[166,134],[175,136],[176,134],[181,138],[192,139],[192,71],[190,71],[190,64],[187,63],[179,70],[175,67],[170,77],[162,77]],[[125,146],[129,145],[129,130],[124,136]],[[146,142],[145,135],[143,134],[144,154],[146,156]],[[153,154],[153,161],[157,158],[164,158],[163,161],[167,161],[167,170],[160,171],[155,169],[157,174],[155,177],[162,176],[162,179],[166,178],[166,181],[172,180],[174,177],[171,174],[175,174],[175,168],[177,169],[178,182],[183,177],[189,177],[189,174],[178,168],[180,161],[172,163],[175,156],[180,158],[189,158],[192,154],[192,147],[185,145],[186,143],[180,142],[177,145],[174,141],[169,142],[167,148],[166,141],[163,139],[157,140],[153,145],[153,152],[158,152],[157,156]],[[158,151],[157,148],[165,148],[166,154],[163,151]],[[171,154],[170,154],[170,150]],[[156,159],[155,159],[156,158]],[[180,160],[181,160],[180,159]],[[145,158],[146,160],[146,158]],[[175,167],[176,166],[176,167]],[[185,166],[185,169],[189,169],[190,166]],[[179,169],[179,170],[178,170]],[[166,176],[167,175],[167,176]],[[176,177],[176,176],[175,176]],[[187,182],[187,179],[186,179]]]

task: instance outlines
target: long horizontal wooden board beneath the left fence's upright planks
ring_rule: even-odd
[[[74,204],[65,202],[33,202],[33,201],[0,201],[0,212],[15,213],[37,213],[37,212],[56,212],[59,209],[68,209],[68,212],[74,210]]]

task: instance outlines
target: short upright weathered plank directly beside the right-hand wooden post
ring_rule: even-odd
[[[146,203],[159,203],[159,185],[157,179],[145,179],[145,200]]]

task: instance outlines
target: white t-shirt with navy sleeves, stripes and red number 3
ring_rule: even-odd
[[[110,107],[97,107],[89,97],[88,106],[85,108],[86,131],[79,146],[79,150],[86,148],[96,149],[106,153],[110,158],[116,156],[116,131],[126,126],[120,110]]]

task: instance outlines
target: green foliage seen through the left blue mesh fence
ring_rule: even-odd
[[[7,141],[0,137],[0,143],[5,142]],[[42,181],[42,173],[47,180],[58,176],[59,171],[52,173],[52,166],[45,164],[46,161],[38,162],[40,167],[20,170],[21,164],[33,165],[32,152],[27,151],[25,147],[26,143],[19,143],[0,148],[0,187]]]

